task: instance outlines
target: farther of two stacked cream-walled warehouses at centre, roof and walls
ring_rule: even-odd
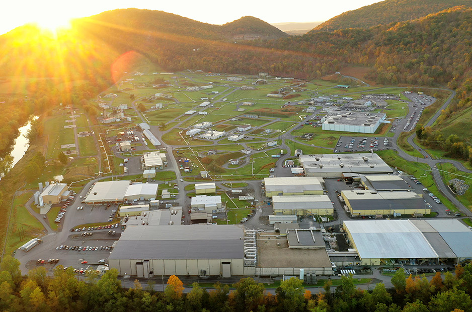
[[[319,177],[264,178],[266,197],[274,195],[322,195],[324,183]]]

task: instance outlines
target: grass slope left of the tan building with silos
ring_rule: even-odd
[[[32,238],[40,236],[44,230],[43,225],[25,207],[31,196],[33,196],[32,192],[15,196],[7,239],[7,252],[16,250]],[[10,209],[10,207],[8,208]],[[18,250],[17,252],[23,251]]]

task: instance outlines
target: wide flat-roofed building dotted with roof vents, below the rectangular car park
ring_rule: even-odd
[[[300,155],[307,176],[340,178],[343,173],[392,173],[394,170],[375,153]]]

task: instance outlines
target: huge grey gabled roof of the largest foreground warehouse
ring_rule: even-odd
[[[130,226],[108,259],[243,259],[238,225]]]

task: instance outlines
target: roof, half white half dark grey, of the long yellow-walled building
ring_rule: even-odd
[[[415,192],[377,192],[375,190],[343,190],[352,210],[425,209],[423,198]]]

